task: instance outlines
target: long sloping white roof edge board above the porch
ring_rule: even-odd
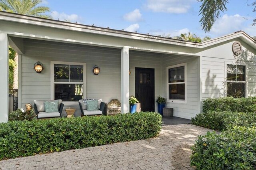
[[[138,33],[132,33],[132,32],[125,32],[125,31],[119,31],[119,30],[112,30],[108,28],[85,26],[81,24],[73,24],[73,23],[49,20],[44,18],[34,18],[30,16],[12,14],[8,12],[0,12],[0,16],[1,16],[1,20],[6,20],[10,22],[19,22],[24,24],[32,24],[32,25],[38,25],[38,26],[46,26],[50,28],[58,28],[58,29],[72,30],[72,31],[78,31],[78,32],[87,32],[92,34],[102,34],[102,35],[150,41],[150,42],[167,43],[170,45],[180,45],[180,46],[186,46],[186,47],[200,48],[201,46],[201,43],[196,43],[196,42],[186,42],[182,40],[168,39],[168,38],[162,38],[162,37],[150,36],[150,35],[144,35],[144,34],[138,34]]]

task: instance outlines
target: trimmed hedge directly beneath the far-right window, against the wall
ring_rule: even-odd
[[[208,98],[203,101],[203,113],[208,111],[255,112],[256,97],[248,98]]]

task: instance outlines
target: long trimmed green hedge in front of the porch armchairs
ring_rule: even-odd
[[[0,124],[0,160],[157,136],[158,113],[141,112]]]

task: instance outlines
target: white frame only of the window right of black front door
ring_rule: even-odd
[[[175,67],[181,67],[181,66],[184,66],[184,82],[176,82],[176,83],[169,83],[169,69],[171,68],[175,68]],[[177,76],[176,76],[177,77]],[[166,101],[167,103],[183,103],[183,104],[186,104],[187,103],[187,63],[180,63],[180,64],[176,64],[176,65],[171,65],[171,66],[168,66],[166,67],[166,91],[167,91],[167,94],[166,94]],[[180,100],[180,99],[169,99],[169,85],[172,85],[172,84],[185,84],[185,99],[184,100]]]

